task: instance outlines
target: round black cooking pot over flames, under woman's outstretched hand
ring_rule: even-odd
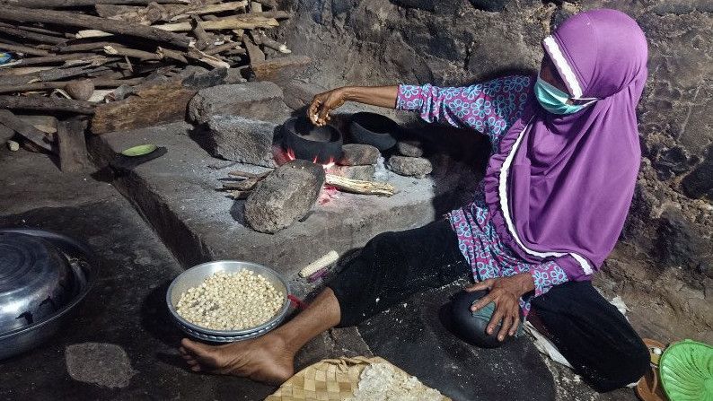
[[[297,159],[326,164],[342,157],[341,133],[333,126],[314,126],[307,118],[290,118],[282,126],[282,145]]]

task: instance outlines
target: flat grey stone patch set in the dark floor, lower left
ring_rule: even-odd
[[[72,379],[108,388],[125,388],[136,371],[119,345],[72,344],[65,350],[66,370]]]

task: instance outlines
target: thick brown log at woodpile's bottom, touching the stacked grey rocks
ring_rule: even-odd
[[[92,118],[92,134],[182,121],[196,92],[180,82],[161,83],[140,89],[125,100],[100,104]]]

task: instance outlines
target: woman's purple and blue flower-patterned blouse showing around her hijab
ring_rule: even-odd
[[[475,129],[490,137],[491,153],[496,153],[501,135],[522,116],[532,83],[530,76],[513,75],[462,88],[400,85],[396,108],[418,111],[429,123],[447,122],[451,126]],[[481,181],[471,204],[453,210],[448,218],[477,281],[525,272],[533,275],[534,294],[520,300],[526,316],[532,297],[565,283],[567,274],[554,261],[524,262],[503,245],[490,221],[483,191]]]

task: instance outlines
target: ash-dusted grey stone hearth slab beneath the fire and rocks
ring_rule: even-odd
[[[131,170],[119,171],[116,186],[133,200],[154,225],[183,266],[214,259],[243,259],[275,268],[288,277],[331,249],[340,254],[358,248],[382,231],[407,230],[431,222],[457,203],[451,191],[458,187],[456,171],[413,179],[383,168],[377,179],[398,189],[392,197],[347,193],[321,194],[304,222],[276,234],[248,228],[244,201],[216,192],[231,170],[265,169],[234,164],[216,166],[191,138],[185,123],[145,130],[118,132],[92,138],[92,152],[105,162],[128,144],[151,142],[167,153]],[[462,172],[461,172],[462,173]]]

